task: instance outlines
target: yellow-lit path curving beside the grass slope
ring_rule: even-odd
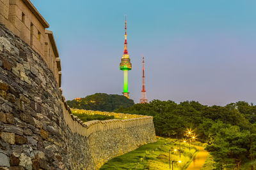
[[[204,162],[208,155],[208,152],[204,150],[204,147],[196,146],[199,152],[196,154],[195,159],[189,164],[187,170],[200,170],[204,166]]]

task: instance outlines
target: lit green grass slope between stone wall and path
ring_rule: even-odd
[[[156,143],[143,145],[140,148],[115,157],[106,162],[100,169],[169,169],[169,150],[179,150],[179,141],[170,138],[157,138]],[[182,143],[181,158],[179,152],[171,154],[171,160],[181,160],[181,163],[173,162],[173,169],[185,169],[190,160],[193,159],[197,150],[189,145]],[[172,164],[172,162],[171,162]],[[172,165],[171,165],[172,166]]]

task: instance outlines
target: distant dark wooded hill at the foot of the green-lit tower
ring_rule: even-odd
[[[96,93],[84,98],[67,101],[70,108],[98,111],[113,111],[118,108],[127,108],[134,104],[132,99],[117,94]]]

